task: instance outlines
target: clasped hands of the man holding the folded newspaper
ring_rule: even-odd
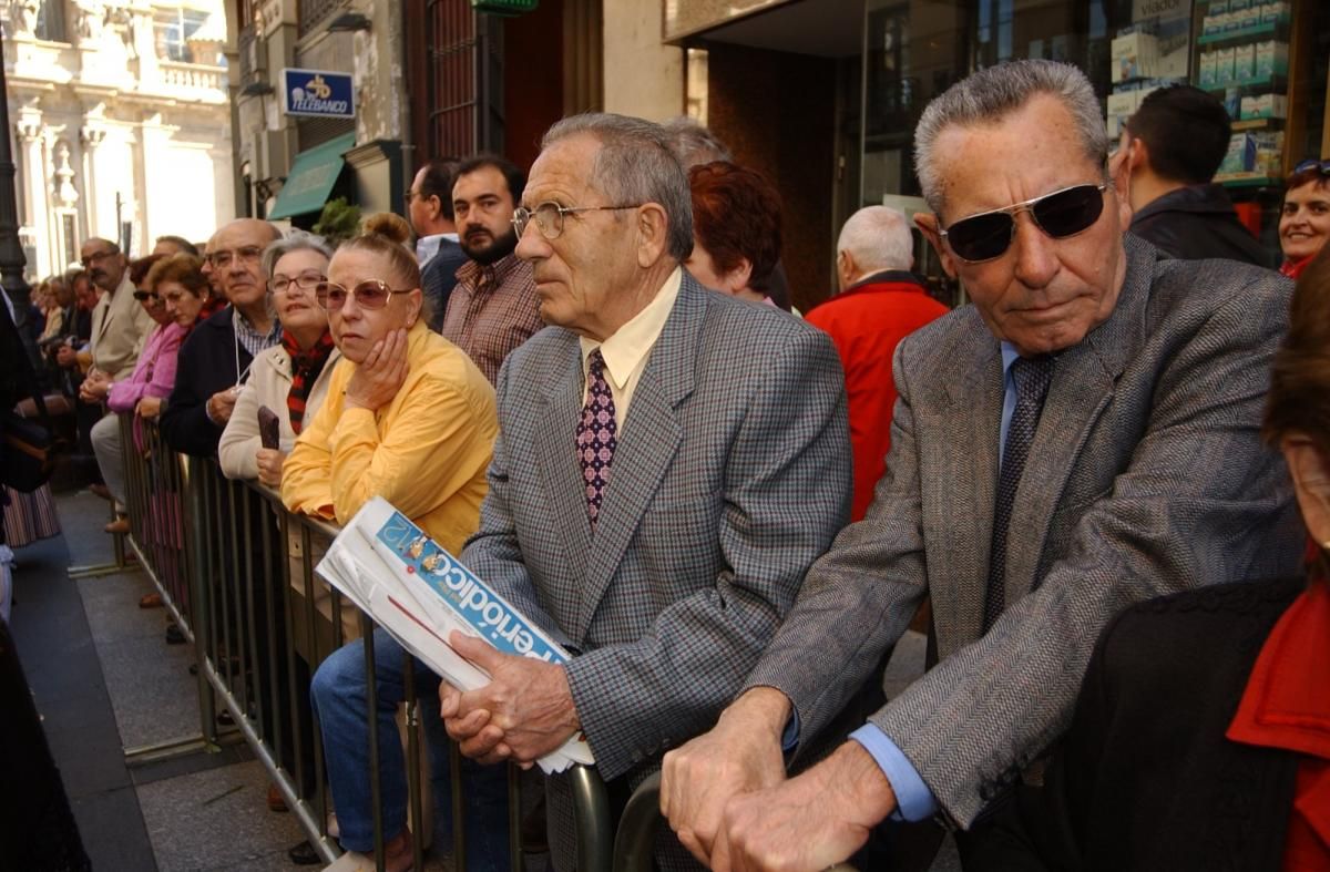
[[[581,728],[563,666],[501,654],[458,631],[448,645],[489,674],[479,690],[439,686],[439,714],[464,755],[481,763],[511,759],[529,768]]]

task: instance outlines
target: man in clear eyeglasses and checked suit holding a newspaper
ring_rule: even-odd
[[[608,114],[544,137],[513,223],[551,327],[499,374],[489,493],[462,561],[579,655],[552,666],[454,637],[493,681],[442,694],[462,752],[485,763],[585,735],[620,811],[739,690],[850,509],[835,348],[681,269],[692,197],[669,145]],[[549,776],[547,798],[568,871],[571,779]],[[696,865],[668,833],[656,861]]]

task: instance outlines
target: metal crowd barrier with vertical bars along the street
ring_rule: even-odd
[[[184,457],[165,445],[156,421],[121,416],[129,546],[157,586],[172,618],[193,643],[198,662],[200,736],[164,743],[158,756],[203,746],[215,751],[229,735],[253,748],[325,861],[339,849],[329,836],[331,811],[321,734],[309,706],[318,665],[355,633],[374,635],[359,613],[314,570],[339,529],[291,514],[278,494],[255,483],[230,481],[214,460]],[[366,674],[375,674],[364,645]],[[419,705],[407,658],[404,683],[407,790],[415,868],[424,868],[426,784],[422,784]],[[375,865],[384,868],[382,786],[378,760],[376,685],[367,682],[370,782]],[[219,714],[225,712],[225,714]],[[221,724],[230,720],[230,724]],[[466,827],[459,754],[450,743],[454,867],[466,869]],[[521,869],[520,786],[511,766],[509,851]],[[571,774],[577,808],[579,867],[609,872],[613,824],[605,786],[593,768]]]

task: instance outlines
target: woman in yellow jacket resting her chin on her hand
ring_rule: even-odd
[[[430,332],[420,270],[392,218],[371,217],[317,290],[343,359],[286,460],[282,501],[346,524],[379,496],[460,553],[480,522],[495,392],[462,350]]]

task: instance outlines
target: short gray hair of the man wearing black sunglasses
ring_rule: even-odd
[[[1103,165],[1108,158],[1108,132],[1095,88],[1071,64],[1045,60],[1009,61],[962,78],[923,110],[915,128],[915,171],[928,207],[942,213],[942,179],[934,145],[952,125],[972,126],[1000,121],[1036,94],[1063,101],[1080,133],[1085,157]]]

